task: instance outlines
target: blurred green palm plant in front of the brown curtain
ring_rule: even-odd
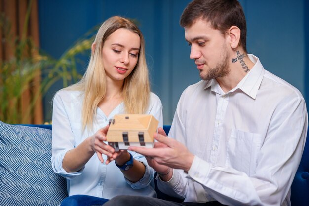
[[[0,60],[0,120],[9,124],[32,123],[27,122],[27,119],[35,103],[58,80],[62,80],[63,87],[77,82],[81,78],[77,72],[78,57],[89,51],[93,42],[91,33],[88,33],[59,59],[44,54],[34,45],[32,38],[26,35],[30,10],[31,1],[19,37],[12,37],[9,19],[0,15],[3,39],[14,53],[12,57]],[[22,97],[27,91],[30,91],[31,98],[27,108],[22,108]]]

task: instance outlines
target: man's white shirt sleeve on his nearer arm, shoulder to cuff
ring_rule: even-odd
[[[252,176],[195,156],[187,178],[225,205],[282,205],[301,160],[307,125],[304,99],[288,96],[272,115]]]

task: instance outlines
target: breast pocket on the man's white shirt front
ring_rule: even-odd
[[[252,176],[257,166],[261,139],[261,134],[232,129],[227,145],[226,165]]]

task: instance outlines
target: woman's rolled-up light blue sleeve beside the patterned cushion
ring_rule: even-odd
[[[66,103],[61,94],[61,91],[56,93],[53,99],[51,165],[55,173],[72,179],[80,175],[83,168],[78,172],[69,173],[62,167],[63,158],[69,150],[74,148],[75,139],[71,131]]]

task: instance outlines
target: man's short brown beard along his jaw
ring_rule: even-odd
[[[227,47],[225,45],[223,45],[221,57],[222,58],[220,62],[216,65],[216,67],[209,68],[208,72],[205,75],[200,73],[201,79],[211,80],[211,79],[215,79],[218,77],[224,77],[230,73],[230,69],[228,66],[229,55],[228,55]]]

